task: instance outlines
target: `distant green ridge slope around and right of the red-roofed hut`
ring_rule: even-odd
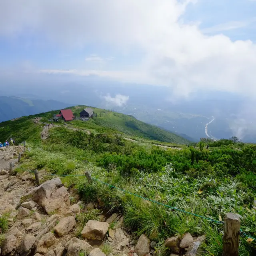
[[[86,106],[72,107],[72,111],[75,116],[79,116],[79,113]],[[171,142],[176,144],[188,144],[189,141],[173,134],[171,132],[162,130],[156,126],[146,124],[135,119],[132,116],[124,114],[109,112],[107,110],[93,108],[97,112],[97,118],[90,119],[90,121],[82,122],[80,120],[73,120],[72,127],[87,129],[91,132],[105,132],[116,133],[122,132],[128,136],[136,136],[147,138],[150,140],[158,140],[161,142]],[[5,140],[10,136],[16,137],[16,140],[28,140],[28,139],[40,139],[40,129],[33,124],[32,119],[36,116],[42,117],[42,121],[49,122],[48,119],[52,118],[53,114],[57,114],[58,111],[46,112],[37,114],[35,116],[22,117],[14,121],[6,121],[0,124],[0,138]],[[101,114],[102,113],[102,114]],[[64,122],[59,122],[59,125],[64,125]],[[68,123],[70,126],[71,124]]]

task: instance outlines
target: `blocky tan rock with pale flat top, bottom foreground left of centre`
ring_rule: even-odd
[[[90,240],[103,240],[108,232],[109,224],[97,220],[89,220],[81,232],[81,236]]]

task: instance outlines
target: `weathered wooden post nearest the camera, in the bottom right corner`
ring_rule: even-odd
[[[227,213],[224,220],[222,256],[238,256],[240,218],[237,214]]]

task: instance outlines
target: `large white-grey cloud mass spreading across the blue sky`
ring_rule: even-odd
[[[70,67],[68,71],[42,72],[95,74],[124,82],[161,84],[172,87],[176,96],[210,89],[255,97],[256,44],[250,40],[232,42],[222,34],[209,36],[200,31],[198,24],[181,22],[192,2],[195,1],[1,1],[0,35],[13,37],[28,31],[63,48],[97,43],[128,56],[143,53],[141,60],[136,59],[131,65],[126,65],[121,55],[120,65],[112,70]],[[224,30],[244,25],[226,24]],[[215,31],[218,30],[217,26]]]

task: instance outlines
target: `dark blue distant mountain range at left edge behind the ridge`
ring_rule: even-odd
[[[29,100],[18,97],[0,97],[0,122],[68,107],[56,100]]]

